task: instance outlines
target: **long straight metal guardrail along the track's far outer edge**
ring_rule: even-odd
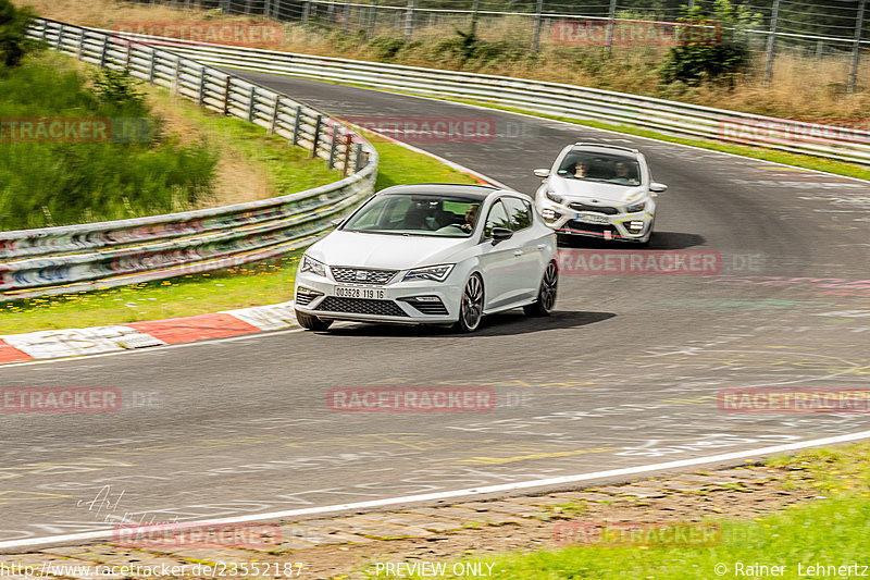
[[[804,123],[544,81],[314,57],[158,36],[124,36],[138,41],[170,46],[177,53],[214,66],[319,78],[437,98],[473,100],[536,113],[623,124],[682,137],[763,146],[870,165],[870,132],[862,129]]]

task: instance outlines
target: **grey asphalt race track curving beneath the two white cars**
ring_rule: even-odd
[[[557,312],[470,336],[345,323],[0,368],[3,386],[116,387],[117,412],[4,414],[0,546],[142,523],[256,516],[658,465],[860,433],[860,412],[720,409],[722,388],[870,378],[870,183],[440,101],[244,73],[338,115],[487,118],[487,141],[414,143],[533,193],[575,140],[639,147],[650,248],[718,252],[708,275],[584,275]],[[288,298],[290,288],[288,289]],[[492,388],[463,414],[331,410],[327,391]],[[739,462],[733,460],[732,462]],[[564,484],[562,488],[569,488]],[[502,492],[508,493],[508,492]],[[5,542],[5,544],[3,544]]]

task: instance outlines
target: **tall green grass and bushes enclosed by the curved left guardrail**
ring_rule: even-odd
[[[112,119],[137,128],[99,143],[0,139],[0,230],[182,211],[210,195],[216,156],[206,145],[178,145],[141,99],[101,98],[72,59],[28,55],[0,69],[0,87],[2,119]]]

